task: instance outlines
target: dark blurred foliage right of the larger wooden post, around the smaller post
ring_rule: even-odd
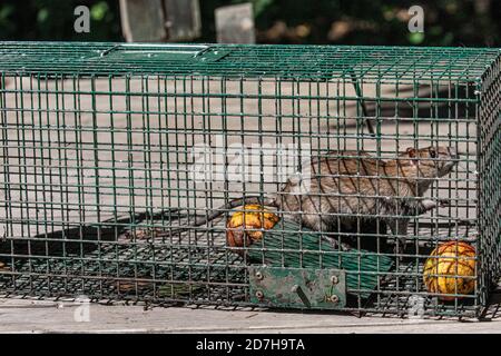
[[[215,37],[214,8],[247,1],[264,43],[501,47],[495,0],[200,0],[204,40]],[[407,29],[414,4],[424,9],[424,33]]]

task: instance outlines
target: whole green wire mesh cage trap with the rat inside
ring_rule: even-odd
[[[498,49],[0,43],[0,291],[479,317]]]

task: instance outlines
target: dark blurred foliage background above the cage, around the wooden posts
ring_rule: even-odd
[[[0,40],[124,41],[122,2],[126,0],[2,0]],[[244,2],[252,6],[252,34],[257,43],[501,47],[501,1],[494,0],[199,0],[195,34],[150,40],[224,41],[217,33],[217,9]],[[179,7],[181,1],[177,3]],[[73,9],[81,4],[90,10],[88,33],[73,30]],[[424,9],[424,32],[407,29],[407,10],[414,4]],[[134,11],[130,13],[139,13]]]

